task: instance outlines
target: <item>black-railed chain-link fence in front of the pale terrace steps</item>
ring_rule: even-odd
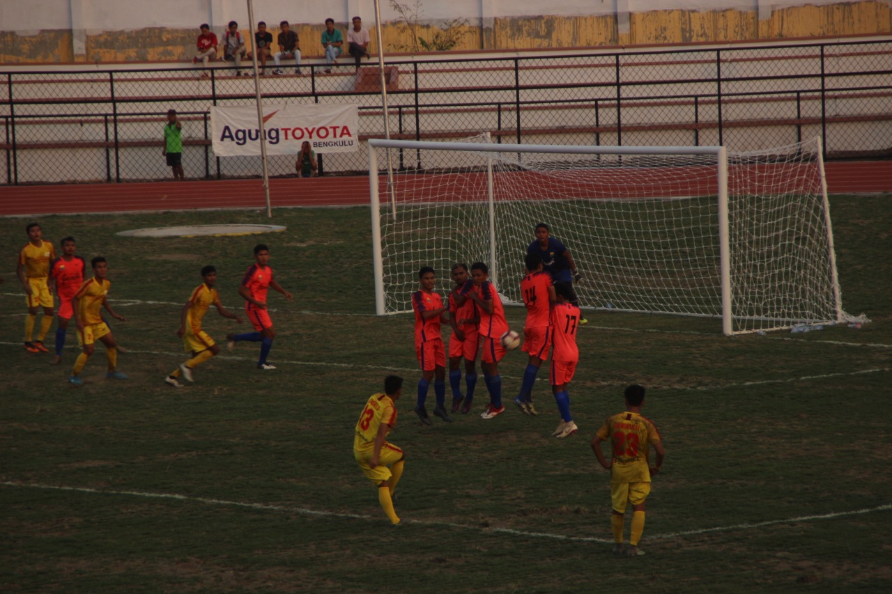
[[[374,64],[302,66],[261,77],[264,102],[355,103],[360,141],[384,136]],[[892,156],[892,41],[387,62],[387,79],[393,138],[747,151],[822,136],[829,160]],[[6,72],[0,96],[2,184],[167,178],[169,109],[183,122],[186,177],[260,175],[259,158],[211,148],[210,107],[255,101],[254,79],[234,68]],[[323,173],[365,172],[361,145],[320,155]],[[401,167],[413,158],[401,154]],[[294,159],[271,156],[268,170],[293,175]]]

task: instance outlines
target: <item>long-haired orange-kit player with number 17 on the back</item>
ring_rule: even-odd
[[[561,422],[554,433],[555,437],[564,438],[576,433],[579,428],[570,415],[570,394],[567,386],[576,373],[579,362],[579,347],[576,346],[576,328],[582,314],[579,308],[570,302],[573,289],[567,285],[556,285],[558,302],[551,309],[551,392],[558,403]]]

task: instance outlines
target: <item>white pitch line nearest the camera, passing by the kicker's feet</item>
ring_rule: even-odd
[[[18,483],[12,481],[4,481],[4,487],[19,487],[23,489],[49,489],[54,491],[74,491],[78,493],[91,493],[97,495],[123,495],[128,497],[141,497],[146,499],[173,499],[177,501],[186,501],[193,503],[202,503],[211,506],[227,506],[227,507],[248,507],[251,509],[261,509],[266,511],[286,512],[291,514],[300,514],[301,516],[316,517],[343,517],[355,520],[364,520],[368,522],[376,522],[378,524],[384,522],[382,516],[364,516],[361,514],[345,514],[341,512],[320,511],[318,509],[310,509],[309,507],[287,507],[275,506],[263,503],[248,503],[243,501],[227,501],[224,499],[207,499],[203,497],[189,497],[187,495],[178,495],[176,493],[149,493],[145,491],[102,491],[98,489],[87,489],[83,487],[66,487],[48,484],[35,483]],[[797,516],[789,517],[782,520],[767,520],[765,522],[756,522],[752,524],[731,524],[729,526],[714,526],[712,528],[699,528],[696,530],[687,530],[683,532],[665,532],[663,534],[648,534],[647,540],[678,540],[688,536],[699,536],[701,534],[709,534],[713,532],[735,532],[755,530],[764,528],[765,526],[773,526],[778,524],[792,524],[803,522],[814,522],[815,520],[832,520],[839,517],[859,516],[863,514],[872,514],[876,512],[888,511],[892,509],[892,504],[885,504],[877,507],[868,507],[864,509],[854,509],[844,512],[834,512],[830,514],[819,514],[814,516]],[[416,524],[419,526],[434,526],[455,528],[460,530],[468,530],[484,533],[511,534],[513,536],[524,536],[527,538],[541,538],[549,540],[569,540],[574,542],[601,542],[604,544],[612,544],[612,539],[602,539],[595,536],[567,536],[566,534],[554,534],[551,532],[529,532],[525,530],[517,530],[514,528],[497,528],[469,525],[454,524],[452,522],[438,522],[435,520],[412,520],[403,518],[405,524]]]

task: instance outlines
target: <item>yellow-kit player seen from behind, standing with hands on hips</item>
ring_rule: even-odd
[[[641,417],[644,388],[632,384],[625,389],[625,412],[607,418],[591,440],[591,450],[601,466],[610,471],[610,499],[613,513],[610,526],[614,535],[614,553],[636,557],[644,555],[638,548],[644,532],[644,500],[650,492],[650,477],[660,471],[665,459],[663,441],[650,419]],[[607,462],[601,442],[610,441],[613,459]],[[650,465],[650,447],[657,452],[656,466]],[[623,524],[626,502],[632,504],[632,534],[629,548],[623,550]]]

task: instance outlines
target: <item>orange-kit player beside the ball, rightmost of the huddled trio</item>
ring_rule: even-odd
[[[490,282],[490,268],[483,262],[475,262],[471,264],[471,277],[474,279],[474,290],[466,288],[462,292],[467,292],[467,296],[474,300],[480,313],[478,331],[483,339],[480,367],[483,368],[483,382],[490,392],[490,403],[486,405],[481,417],[490,419],[505,412],[501,403],[499,361],[505,356],[501,336],[508,332],[508,322],[505,321],[505,309],[502,308],[499,293]],[[470,410],[470,406],[471,403],[466,399],[465,407]]]

